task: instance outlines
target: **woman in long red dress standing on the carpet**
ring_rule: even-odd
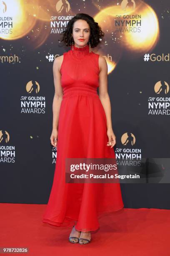
[[[53,64],[55,95],[50,140],[57,147],[57,159],[43,222],[56,226],[74,223],[71,243],[89,243],[91,231],[99,228],[98,218],[124,206],[119,183],[65,182],[67,158],[115,158],[107,62],[91,51],[103,36],[91,16],[77,14],[62,38],[70,50]]]

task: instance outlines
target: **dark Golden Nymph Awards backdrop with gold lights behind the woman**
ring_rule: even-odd
[[[0,1],[0,202],[47,203],[57,157],[52,65],[70,49],[60,33],[77,13],[105,33],[92,50],[108,65],[116,158],[124,168],[143,159],[148,174],[121,183],[124,205],[170,209],[169,0]]]

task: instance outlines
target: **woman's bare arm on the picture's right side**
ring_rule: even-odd
[[[112,130],[112,119],[111,119],[111,104],[110,104],[110,97],[107,91],[107,62],[103,56],[99,56],[99,66],[100,66],[100,73],[99,73],[99,98],[102,103],[102,106],[105,110],[106,120],[107,120],[107,136],[109,138],[109,142],[111,144],[107,146],[111,146],[111,148],[115,145],[115,134]]]

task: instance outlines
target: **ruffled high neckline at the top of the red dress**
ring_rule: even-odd
[[[70,48],[70,54],[72,58],[76,60],[85,59],[89,54],[91,54],[89,52],[89,46],[87,44],[83,47],[76,47],[75,45],[73,45],[73,49],[72,46],[70,46]]]

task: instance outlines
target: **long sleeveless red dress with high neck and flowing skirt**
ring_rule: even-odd
[[[119,183],[65,183],[66,158],[115,158],[107,146],[105,111],[97,94],[99,54],[74,46],[60,68],[63,99],[58,121],[55,173],[43,222],[80,231],[99,228],[98,218],[124,207]]]

